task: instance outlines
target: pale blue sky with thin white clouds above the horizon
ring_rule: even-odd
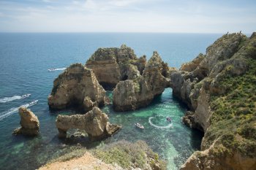
[[[256,31],[255,0],[0,0],[0,32]]]

